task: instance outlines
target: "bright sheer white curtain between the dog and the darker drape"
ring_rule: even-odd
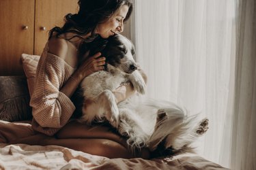
[[[148,76],[147,96],[208,117],[197,142],[204,158],[230,165],[236,58],[234,0],[136,0],[136,58]]]

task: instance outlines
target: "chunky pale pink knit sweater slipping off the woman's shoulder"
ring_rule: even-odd
[[[32,128],[46,135],[54,135],[74,112],[74,104],[59,90],[74,72],[62,58],[48,52],[48,44],[40,57],[31,96]]]

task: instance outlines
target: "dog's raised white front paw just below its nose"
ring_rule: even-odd
[[[134,89],[137,90],[137,92],[141,93],[142,95],[145,94],[146,84],[139,71],[135,70],[128,76],[128,79],[130,82],[132,82],[132,85],[134,86]]]

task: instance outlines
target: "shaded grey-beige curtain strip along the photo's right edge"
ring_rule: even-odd
[[[231,167],[256,169],[256,1],[237,1]]]

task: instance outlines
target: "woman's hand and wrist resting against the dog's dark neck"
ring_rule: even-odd
[[[104,70],[104,65],[106,58],[101,56],[100,52],[97,52],[93,56],[86,56],[83,63],[79,66],[76,72],[72,75],[72,78],[76,78],[78,82],[81,82],[83,78],[87,77],[91,73],[95,73],[96,71]]]

